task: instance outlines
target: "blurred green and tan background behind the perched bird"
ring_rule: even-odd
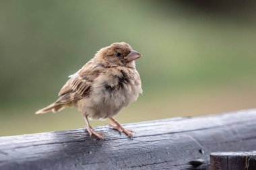
[[[128,42],[143,95],[121,123],[256,108],[253,1],[0,1],[0,136],[82,128],[34,112],[97,50]],[[106,122],[92,121],[92,126]]]

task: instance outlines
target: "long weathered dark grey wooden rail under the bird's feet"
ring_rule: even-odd
[[[1,137],[0,169],[205,169],[212,152],[256,150],[256,110],[125,128],[133,139],[105,126],[106,140],[83,129]]]

